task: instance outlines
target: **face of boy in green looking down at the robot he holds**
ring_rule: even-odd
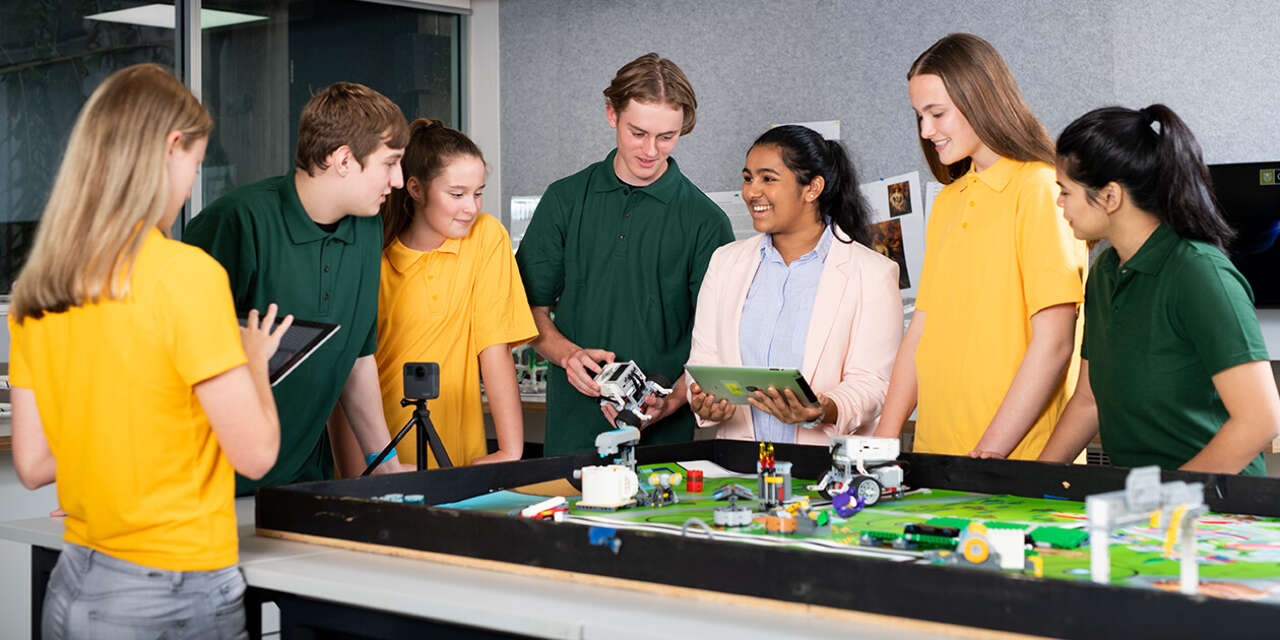
[[[653,184],[667,170],[667,157],[680,140],[684,110],[664,102],[631,100],[621,113],[605,105],[609,127],[617,129],[618,154],[613,172],[634,187]]]

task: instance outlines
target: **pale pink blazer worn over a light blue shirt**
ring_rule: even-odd
[[[760,264],[763,238],[758,234],[726,244],[712,256],[698,293],[690,365],[741,366],[739,325]],[[835,402],[838,416],[835,424],[796,428],[796,443],[828,444],[832,435],[870,431],[884,406],[901,342],[897,262],[858,243],[832,242],[818,280],[800,371],[814,393]],[[698,426],[718,426],[717,438],[755,439],[749,404],[737,406],[719,424],[698,419]]]

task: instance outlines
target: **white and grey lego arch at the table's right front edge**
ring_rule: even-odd
[[[1149,522],[1165,530],[1165,553],[1181,535],[1181,584],[1184,594],[1199,590],[1199,564],[1196,563],[1196,518],[1208,511],[1201,483],[1161,483],[1160,467],[1138,467],[1129,472],[1124,490],[1089,495],[1084,513],[1089,518],[1089,573],[1094,582],[1111,582],[1111,531]]]

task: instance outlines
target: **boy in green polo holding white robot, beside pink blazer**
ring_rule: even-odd
[[[733,239],[724,212],[671,157],[698,109],[684,72],[648,54],[618,69],[604,97],[617,148],[547,188],[516,253],[534,348],[558,365],[548,376],[548,456],[594,451],[595,435],[612,429],[594,381],[602,361],[634,360],[677,380],[648,406],[644,444],[692,439],[681,372],[694,303],[712,253]]]

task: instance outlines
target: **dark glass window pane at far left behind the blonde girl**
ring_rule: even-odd
[[[90,93],[131,64],[173,68],[172,8],[168,28],[101,17],[142,4],[0,0],[0,296],[9,293],[31,250],[67,137]]]

